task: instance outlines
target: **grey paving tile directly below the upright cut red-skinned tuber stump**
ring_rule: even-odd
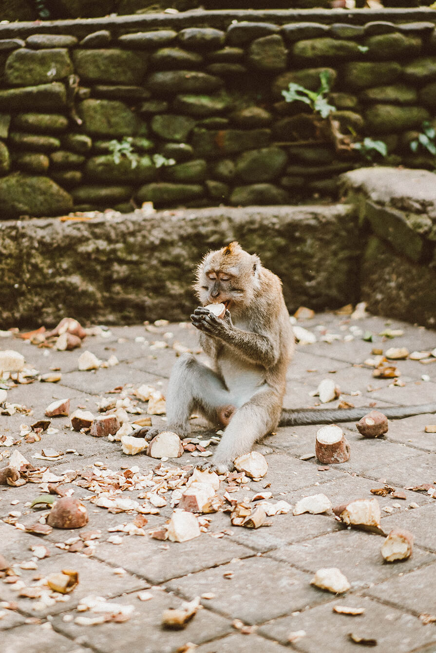
[[[316,465],[310,461],[297,460],[282,453],[272,453],[267,456],[268,472],[267,477],[260,483],[250,483],[258,491],[265,486],[265,481],[271,483],[268,490],[273,494],[276,492],[292,492],[300,488],[309,487],[321,481],[331,481],[341,476],[343,472],[337,469],[318,471]]]

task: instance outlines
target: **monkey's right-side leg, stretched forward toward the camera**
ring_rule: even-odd
[[[210,460],[212,466],[220,473],[229,470],[237,456],[252,451],[257,440],[275,429],[279,417],[280,402],[275,393],[271,390],[256,392],[233,413]]]

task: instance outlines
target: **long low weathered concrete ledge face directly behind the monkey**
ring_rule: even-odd
[[[361,242],[352,208],[256,206],[141,212],[87,221],[0,222],[0,328],[183,319],[193,266],[239,240],[283,281],[290,310],[358,299]]]

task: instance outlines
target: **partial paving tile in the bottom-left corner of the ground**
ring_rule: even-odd
[[[49,628],[48,628],[49,626]],[[1,637],[3,653],[18,653],[31,650],[32,653],[91,653],[67,637],[56,633],[50,624],[19,626],[3,633]]]

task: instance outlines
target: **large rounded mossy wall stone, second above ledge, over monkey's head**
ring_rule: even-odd
[[[288,161],[280,148],[260,148],[239,155],[236,174],[244,182],[269,182],[277,177]]]

